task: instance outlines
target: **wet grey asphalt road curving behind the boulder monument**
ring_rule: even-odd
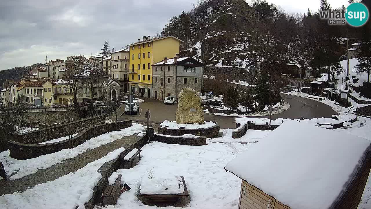
[[[337,113],[332,110],[332,108],[324,103],[317,102],[315,100],[306,99],[303,97],[292,96],[289,94],[281,94],[282,99],[290,104],[290,109],[285,110],[279,114],[272,115],[272,119],[277,118],[321,118],[321,117],[331,117]],[[143,98],[141,98],[143,99]],[[141,113],[138,115],[132,115],[132,120],[135,122],[147,122],[144,118],[145,111],[147,109],[151,112],[151,123],[162,123],[164,120],[175,121],[175,112],[177,111],[178,105],[164,105],[161,101],[144,98],[144,103],[138,103],[141,108]],[[125,108],[125,104],[121,105],[118,110],[117,118],[118,120],[130,119],[130,115],[122,114]],[[121,115],[122,114],[122,115]],[[268,118],[269,116],[252,116],[252,118]],[[113,120],[115,115],[111,115]],[[205,121],[213,121],[220,125],[220,128],[235,128],[234,119],[236,117],[229,116],[219,116],[209,113],[204,113]]]

